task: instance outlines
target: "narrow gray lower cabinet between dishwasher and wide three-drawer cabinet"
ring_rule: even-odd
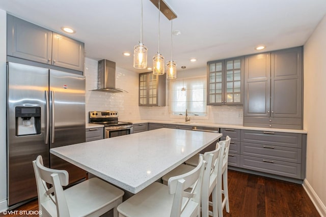
[[[220,133],[223,134],[220,140],[225,140],[226,136],[231,138],[228,156],[228,165],[240,167],[240,135],[241,130],[232,128],[221,128]]]

